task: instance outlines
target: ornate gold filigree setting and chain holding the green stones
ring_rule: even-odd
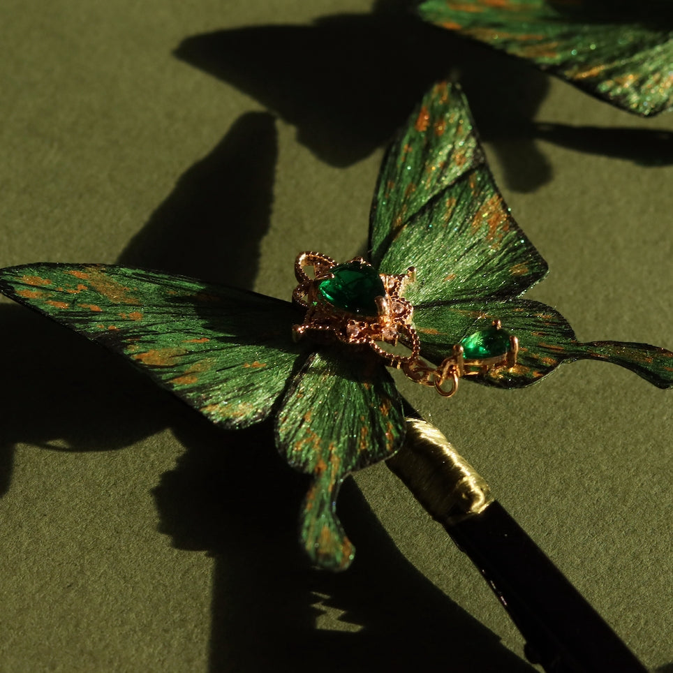
[[[351,262],[371,267],[362,257],[344,263]],[[306,315],[302,325],[293,325],[295,340],[310,333],[321,341],[336,339],[352,346],[368,347],[389,367],[401,369],[415,383],[434,387],[443,397],[451,397],[458,389],[459,379],[464,376],[509,369],[517,364],[519,340],[510,335],[510,348],[503,355],[468,359],[464,357],[463,346],[457,343],[452,353],[438,367],[433,367],[420,357],[420,339],[411,322],[413,306],[401,296],[406,284],[415,281],[414,267],[409,267],[406,274],[379,274],[385,294],[376,297],[376,316],[363,316],[333,306],[318,292],[322,281],[334,278],[332,269],[337,265],[335,260],[322,253],[306,251],[297,256],[295,276],[299,285],[292,298],[297,306],[306,309]],[[309,267],[313,267],[312,275],[306,273]],[[493,324],[497,329],[501,328],[500,320],[494,320]],[[390,353],[379,343],[392,346],[402,343],[410,353]]]

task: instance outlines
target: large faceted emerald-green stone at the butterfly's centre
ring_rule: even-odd
[[[334,278],[318,283],[318,293],[338,309],[348,313],[376,316],[376,297],[385,295],[383,281],[363,262],[346,262],[330,269]]]

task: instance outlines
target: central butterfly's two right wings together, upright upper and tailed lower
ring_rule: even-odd
[[[455,146],[443,145],[449,141]],[[641,343],[581,343],[558,311],[519,297],[547,267],[503,202],[456,85],[431,89],[388,152],[370,239],[382,272],[416,268],[404,296],[414,305],[421,354],[431,362],[501,320],[519,339],[518,364],[471,380],[521,387],[561,362],[594,358],[628,367],[660,387],[672,385],[669,351]]]

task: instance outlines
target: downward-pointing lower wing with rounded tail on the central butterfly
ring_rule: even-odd
[[[348,473],[390,458],[404,439],[399,393],[376,357],[338,347],[312,353],[276,417],[288,463],[313,476],[300,532],[316,565],[343,570],[355,549],[336,517]]]

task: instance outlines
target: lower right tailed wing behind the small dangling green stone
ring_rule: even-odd
[[[551,374],[563,362],[605,360],[626,367],[660,388],[673,386],[673,353],[646,343],[577,341],[568,322],[546,304],[528,299],[430,306],[414,312],[421,338],[421,353],[441,362],[464,336],[501,320],[503,328],[519,339],[517,364],[511,369],[487,372],[471,380],[497,387],[523,387]]]

